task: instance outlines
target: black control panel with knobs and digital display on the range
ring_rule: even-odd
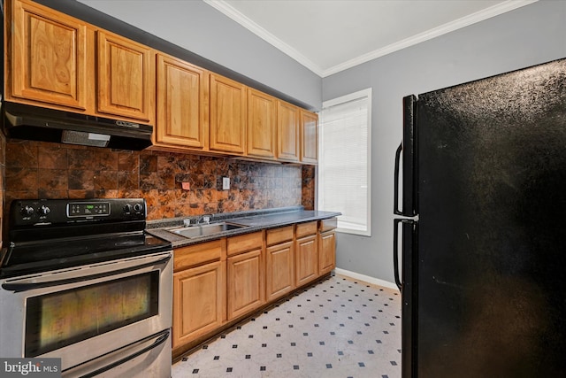
[[[146,213],[143,198],[17,199],[10,208],[11,227],[145,220]]]

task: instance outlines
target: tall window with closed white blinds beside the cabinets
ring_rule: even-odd
[[[371,235],[371,89],[325,101],[320,112],[318,209],[341,212],[338,229]]]

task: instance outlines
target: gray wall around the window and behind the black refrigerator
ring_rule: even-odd
[[[373,90],[371,237],[339,234],[337,266],[394,282],[394,152],[402,140],[403,96],[556,58],[566,58],[562,0],[530,4],[325,78],[323,101]]]

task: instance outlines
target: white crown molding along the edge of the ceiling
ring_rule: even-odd
[[[219,12],[224,13],[230,19],[233,19],[242,27],[246,27],[247,29],[249,29],[249,31],[262,38],[265,42],[272,44],[272,46],[281,50],[290,58],[294,58],[294,60],[296,60],[302,66],[307,67],[313,73],[316,73],[318,76],[324,78],[334,73],[339,73],[340,71],[347,70],[348,68],[361,65],[375,58],[380,58],[387,54],[391,54],[392,52],[413,46],[417,43],[428,41],[437,36],[445,35],[463,27],[468,27],[485,19],[491,19],[492,17],[499,16],[502,13],[513,11],[517,8],[523,7],[524,5],[536,3],[539,0],[507,0],[501,4],[495,4],[489,8],[472,13],[461,19],[455,19],[454,21],[448,22],[447,24],[441,25],[440,27],[434,27],[418,35],[413,35],[400,42],[392,43],[382,49],[373,50],[371,52],[368,52],[367,54],[361,55],[360,57],[350,59],[346,62],[340,63],[340,65],[336,65],[328,69],[323,69],[320,66],[317,66],[309,58],[306,58],[300,52],[294,50],[293,47],[279,40],[279,38],[269,33],[263,27],[257,25],[254,21],[244,16],[241,12],[238,12],[224,0],[203,1],[204,3],[209,4],[213,8],[217,9]]]

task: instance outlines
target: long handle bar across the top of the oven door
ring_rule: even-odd
[[[147,266],[163,265],[171,258],[171,252],[167,252],[166,255],[162,253],[157,256],[135,258],[126,262],[121,261],[119,263],[103,263],[96,266],[88,266],[87,268],[75,268],[68,271],[59,272],[57,274],[36,275],[33,277],[17,279],[13,281],[8,280],[2,284],[2,289],[10,290],[13,292],[21,292],[31,289],[62,286],[69,283],[86,282],[96,280],[98,278],[108,277],[111,275],[134,272]],[[142,260],[142,262],[140,262],[140,259]],[[119,266],[121,267],[119,267],[118,269],[112,269],[112,264],[119,264]],[[101,266],[103,266],[103,268],[100,268]],[[94,269],[95,271],[99,272],[96,272],[94,274],[81,274],[80,271],[82,269]],[[70,274],[70,272],[72,272],[72,275]],[[61,275],[63,275],[63,277],[61,277]],[[65,275],[67,275],[68,277],[65,278]]]

